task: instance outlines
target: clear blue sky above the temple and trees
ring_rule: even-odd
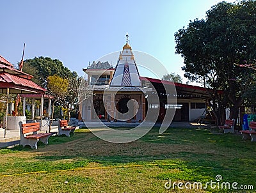
[[[1,1],[0,55],[17,63],[26,43],[24,59],[49,56],[83,75],[82,68],[89,61],[122,50],[128,32],[133,50],[147,52],[168,72],[183,75],[183,59],[175,54],[174,33],[189,20],[204,19],[205,12],[218,2]]]

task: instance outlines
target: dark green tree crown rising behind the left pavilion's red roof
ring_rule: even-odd
[[[52,75],[58,75],[62,78],[67,78],[74,75],[74,72],[63,65],[58,59],[51,59],[49,57],[38,57],[33,59],[26,59],[23,65],[23,72],[29,73],[34,76],[32,81],[36,84],[47,87],[47,77]]]

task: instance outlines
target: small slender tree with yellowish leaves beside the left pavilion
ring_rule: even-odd
[[[68,79],[63,79],[58,75],[49,76],[47,78],[48,93],[53,96],[52,100],[52,120],[54,115],[54,104],[59,102],[60,104],[65,103],[65,98],[68,93]],[[49,126],[49,132],[51,132],[52,121]]]

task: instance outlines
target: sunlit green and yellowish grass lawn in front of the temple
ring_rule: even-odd
[[[169,180],[192,189],[165,189]],[[221,189],[222,182],[237,189]],[[214,129],[152,128],[138,141],[113,144],[80,129],[38,150],[0,150],[0,192],[256,192],[256,143]]]

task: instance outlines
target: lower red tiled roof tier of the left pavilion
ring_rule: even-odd
[[[12,75],[10,73],[0,73],[0,88],[1,88],[1,82],[7,83],[7,84],[14,84],[16,86],[37,89],[39,91],[46,91],[46,89],[38,86],[35,82],[30,81],[28,79],[24,79],[23,77],[19,77],[17,75]]]

